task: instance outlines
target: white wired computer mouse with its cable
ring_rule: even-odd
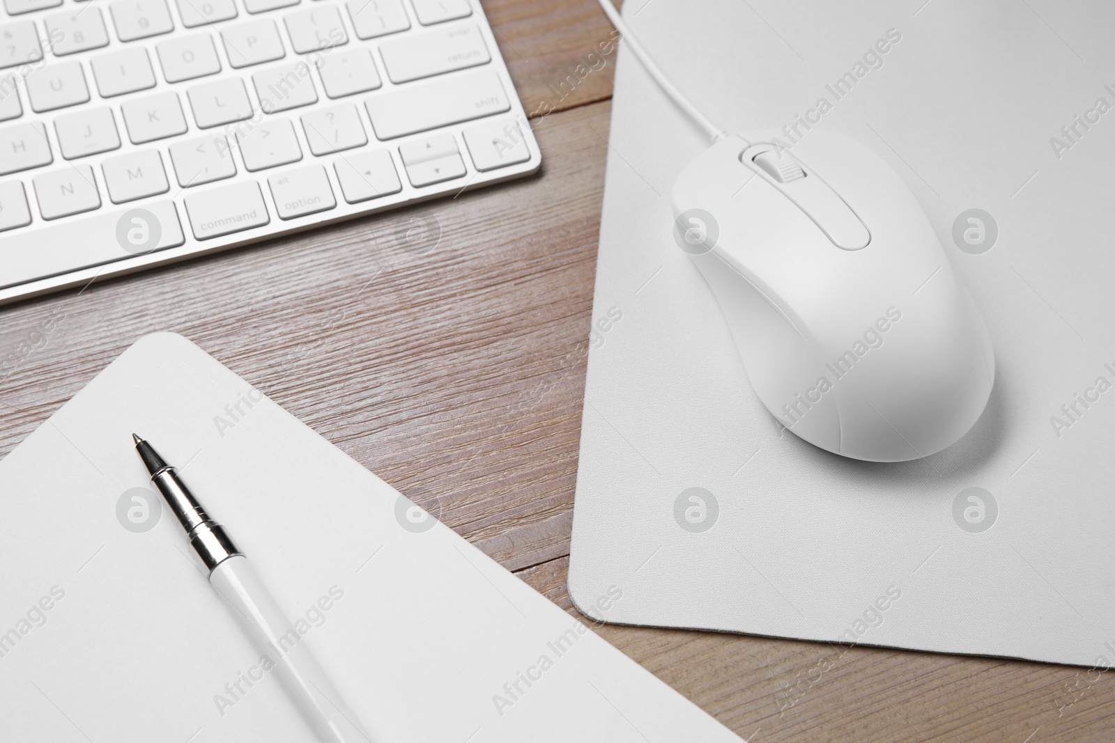
[[[773,130],[725,134],[600,2],[714,139],[673,185],[675,228],[770,414],[814,446],[878,462],[964,436],[991,394],[991,339],[902,178],[822,129],[792,150]]]

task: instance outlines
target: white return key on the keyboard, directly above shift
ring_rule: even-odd
[[[475,26],[400,37],[379,45],[391,82],[408,82],[492,61]]]

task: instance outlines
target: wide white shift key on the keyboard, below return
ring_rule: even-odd
[[[479,70],[385,91],[365,100],[380,139],[426,131],[511,109],[494,70]]]

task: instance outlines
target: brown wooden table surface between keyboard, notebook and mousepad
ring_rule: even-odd
[[[175,331],[580,616],[565,576],[614,55],[583,70],[611,28],[594,0],[484,7],[526,110],[553,109],[541,176],[0,307],[0,456],[139,335]],[[394,242],[418,215],[442,229],[425,256]],[[753,742],[1115,740],[1112,673],[598,632]]]

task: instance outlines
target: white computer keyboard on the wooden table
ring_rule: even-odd
[[[2,0],[0,302],[537,170],[477,0]]]

